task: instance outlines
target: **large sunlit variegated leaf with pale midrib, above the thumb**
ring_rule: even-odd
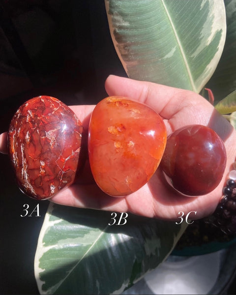
[[[200,92],[223,51],[223,0],[105,3],[112,39],[130,78]]]

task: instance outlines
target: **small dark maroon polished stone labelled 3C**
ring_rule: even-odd
[[[173,187],[188,196],[211,192],[221,181],[225,166],[223,141],[202,125],[189,125],[168,136],[160,165]]]

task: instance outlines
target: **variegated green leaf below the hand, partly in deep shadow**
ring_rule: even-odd
[[[40,294],[119,294],[158,266],[186,228],[132,214],[109,226],[114,215],[50,204],[34,262]]]

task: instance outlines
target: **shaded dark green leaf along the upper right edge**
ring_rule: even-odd
[[[215,102],[236,89],[236,0],[225,0],[227,33],[224,50],[219,64],[211,77],[210,88]]]

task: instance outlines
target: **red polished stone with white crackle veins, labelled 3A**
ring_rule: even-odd
[[[21,190],[43,200],[73,183],[80,166],[83,127],[76,115],[51,96],[25,102],[13,116],[9,155]]]

